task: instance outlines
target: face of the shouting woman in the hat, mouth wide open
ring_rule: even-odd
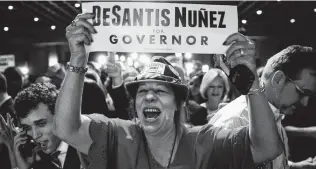
[[[174,125],[176,100],[172,87],[159,82],[141,83],[135,107],[145,132],[165,133]]]

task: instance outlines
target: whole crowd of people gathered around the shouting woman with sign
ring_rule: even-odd
[[[316,129],[282,124],[316,94],[315,49],[292,45],[257,68],[254,42],[230,35],[226,64],[255,77],[241,95],[219,66],[204,73],[196,62],[188,75],[175,56],[141,71],[97,66],[85,50],[93,17],[66,28],[67,65],[33,81],[16,67],[0,74],[1,169],[316,168],[314,156],[291,160],[287,137]]]

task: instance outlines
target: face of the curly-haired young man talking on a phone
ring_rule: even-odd
[[[53,114],[47,105],[40,103],[20,120],[27,135],[41,145],[44,153],[50,154],[57,149],[60,139],[53,134]]]

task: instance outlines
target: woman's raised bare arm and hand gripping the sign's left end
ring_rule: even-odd
[[[56,136],[85,154],[88,153],[92,139],[89,135],[91,120],[81,115],[84,74],[88,61],[84,45],[90,45],[91,33],[96,33],[93,25],[87,21],[93,17],[91,13],[78,15],[66,28],[71,58],[55,105],[53,127]]]

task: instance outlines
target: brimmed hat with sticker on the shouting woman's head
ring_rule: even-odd
[[[185,101],[188,96],[188,86],[181,83],[181,78],[176,69],[163,57],[154,56],[143,71],[129,83],[126,88],[129,94],[135,98],[138,85],[142,82],[160,82],[173,86],[175,96]]]

